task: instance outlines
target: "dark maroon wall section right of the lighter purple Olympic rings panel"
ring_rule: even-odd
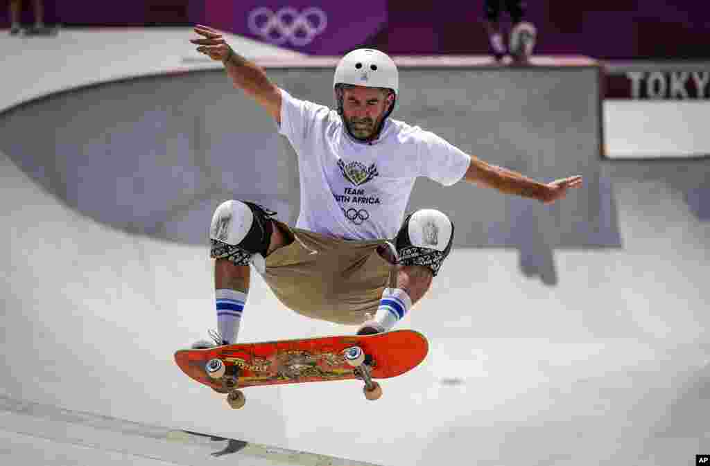
[[[710,57],[710,4],[679,0],[528,0],[537,53],[596,58]],[[488,50],[483,0],[388,1],[388,23],[371,45],[391,53],[479,54]],[[584,8],[584,9],[580,9]],[[503,15],[504,21],[509,21]]]

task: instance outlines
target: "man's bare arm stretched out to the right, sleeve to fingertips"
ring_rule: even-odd
[[[544,204],[552,204],[567,195],[567,189],[581,187],[580,176],[557,179],[551,183],[540,183],[503,167],[490,165],[471,155],[471,164],[464,179],[479,187],[498,189],[506,194],[537,199]]]

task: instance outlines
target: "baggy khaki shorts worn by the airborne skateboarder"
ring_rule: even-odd
[[[303,316],[358,325],[375,315],[383,289],[395,286],[395,265],[378,248],[386,240],[341,240],[279,221],[290,244],[266,257],[263,277],[286,307]]]

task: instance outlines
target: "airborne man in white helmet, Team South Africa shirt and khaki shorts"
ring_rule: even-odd
[[[295,228],[246,200],[217,207],[210,226],[215,259],[218,333],[236,343],[249,292],[249,265],[289,309],[357,333],[389,331],[427,292],[449,255],[454,226],[435,209],[405,217],[417,177],[450,186],[461,180],[550,204],[581,177],[549,184],[467,155],[434,133],[390,118],[399,93],[398,70],[378,50],[342,57],[334,73],[336,109],[303,101],[265,72],[196,26],[197,50],[224,63],[234,87],[260,104],[295,149],[300,213]],[[239,157],[249,157],[242,154]]]

